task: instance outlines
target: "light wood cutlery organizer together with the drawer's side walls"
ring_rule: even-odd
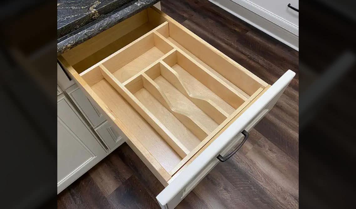
[[[171,18],[149,8],[148,21],[153,30],[80,74],[59,60],[167,186],[268,84]]]

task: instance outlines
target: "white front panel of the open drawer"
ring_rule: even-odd
[[[242,138],[243,130],[250,130],[276,104],[293,79],[295,73],[288,70],[263,95],[221,133],[201,154],[157,195],[162,208],[174,208],[219,162],[216,157],[225,156],[227,150]],[[237,139],[237,140],[236,140]]]

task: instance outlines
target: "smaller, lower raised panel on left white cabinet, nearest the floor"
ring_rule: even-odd
[[[125,134],[120,129],[114,129],[107,121],[96,128],[95,131],[110,150],[120,146],[126,139]]]

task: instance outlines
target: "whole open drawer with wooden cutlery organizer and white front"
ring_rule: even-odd
[[[153,7],[58,59],[166,187],[162,208],[176,207],[295,75],[270,86]]]

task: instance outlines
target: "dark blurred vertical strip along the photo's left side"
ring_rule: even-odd
[[[55,208],[56,1],[1,1],[1,208]]]

